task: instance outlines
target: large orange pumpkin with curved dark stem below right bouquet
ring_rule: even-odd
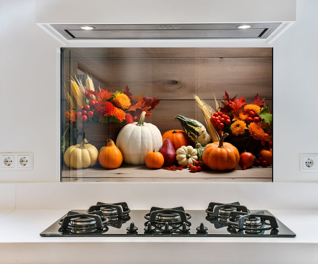
[[[203,150],[203,162],[212,170],[232,170],[239,164],[239,151],[228,142],[224,142],[225,133],[220,142],[207,144]]]

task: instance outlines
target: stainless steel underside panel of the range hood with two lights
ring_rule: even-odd
[[[51,24],[66,39],[258,39],[267,38],[282,23],[227,24]]]

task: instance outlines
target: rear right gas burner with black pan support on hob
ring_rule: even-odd
[[[226,223],[231,212],[246,212],[250,211],[246,206],[240,205],[239,202],[231,204],[220,204],[211,202],[205,212],[208,214],[207,220],[219,218],[220,222]]]

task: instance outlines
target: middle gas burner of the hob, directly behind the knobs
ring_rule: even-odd
[[[161,228],[168,223],[172,228],[179,228],[184,222],[190,226],[191,224],[188,221],[190,218],[191,215],[186,213],[182,206],[169,209],[151,207],[150,212],[145,214],[145,219],[148,220],[145,226],[149,222],[151,225]]]

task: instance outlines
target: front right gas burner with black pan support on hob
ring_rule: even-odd
[[[227,222],[233,228],[245,230],[251,234],[278,227],[276,218],[272,215],[265,215],[264,211],[255,213],[231,212]]]

